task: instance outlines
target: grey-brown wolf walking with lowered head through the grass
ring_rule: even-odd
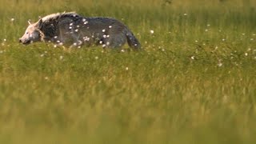
[[[83,17],[75,12],[50,14],[30,23],[19,42],[54,42],[65,47],[121,47],[126,42],[135,50],[141,45],[134,34],[115,18]]]

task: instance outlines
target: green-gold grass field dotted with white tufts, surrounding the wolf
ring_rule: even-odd
[[[18,43],[65,10],[121,20],[143,50]],[[0,143],[255,143],[255,15],[252,0],[1,2]]]

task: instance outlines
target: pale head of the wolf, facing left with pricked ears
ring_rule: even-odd
[[[31,24],[29,22],[29,26],[26,28],[25,34],[22,38],[19,38],[19,42],[24,45],[28,45],[32,42],[38,42],[42,40],[42,19],[39,19],[38,22]]]

